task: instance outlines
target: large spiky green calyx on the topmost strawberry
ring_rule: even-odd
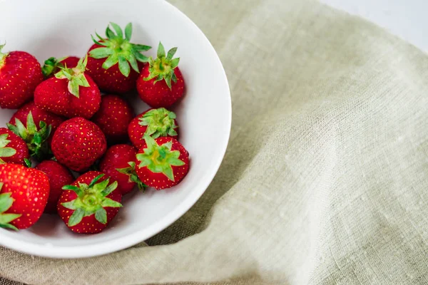
[[[110,25],[114,32],[111,30]],[[89,52],[89,56],[97,59],[107,58],[103,63],[104,69],[111,68],[111,66],[118,63],[119,70],[123,76],[128,77],[131,72],[131,68],[137,73],[140,73],[138,61],[148,61],[148,57],[144,56],[141,52],[148,51],[151,49],[151,46],[144,46],[130,42],[132,35],[131,23],[126,25],[125,34],[123,34],[122,28],[118,26],[118,24],[110,23],[110,25],[106,28],[106,38],[102,38],[98,33],[96,33],[96,36],[98,37],[97,41],[96,38],[92,36],[93,42],[101,47],[94,48]]]

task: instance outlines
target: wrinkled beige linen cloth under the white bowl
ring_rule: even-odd
[[[428,284],[427,55],[315,1],[171,2],[230,81],[212,185],[151,247],[2,248],[0,284]]]

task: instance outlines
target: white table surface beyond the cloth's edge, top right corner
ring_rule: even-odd
[[[362,16],[428,52],[428,0],[320,0]]]

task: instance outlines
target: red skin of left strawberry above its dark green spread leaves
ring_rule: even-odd
[[[9,120],[9,123],[12,125],[15,125],[15,119],[18,119],[21,121],[21,123],[26,126],[27,117],[29,113],[31,112],[31,115],[33,115],[34,123],[36,124],[37,128],[40,126],[40,122],[46,123],[46,125],[51,125],[52,131],[51,131],[51,137],[53,137],[55,130],[58,128],[61,123],[63,123],[64,118],[58,115],[55,115],[54,113],[47,112],[39,107],[36,106],[36,103],[34,101],[31,101],[29,103],[26,103],[24,106],[19,108],[14,115],[12,115],[11,120]]]

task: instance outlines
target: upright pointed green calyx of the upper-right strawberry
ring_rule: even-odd
[[[173,58],[175,52],[177,52],[177,48],[171,48],[168,54],[165,55],[165,48],[163,48],[162,43],[159,43],[158,58],[154,60],[153,58],[148,59],[148,63],[150,63],[148,71],[150,74],[147,78],[144,78],[144,81],[150,81],[153,78],[156,78],[154,83],[165,80],[166,85],[171,89],[171,81],[177,82],[174,69],[180,62],[180,58]]]

